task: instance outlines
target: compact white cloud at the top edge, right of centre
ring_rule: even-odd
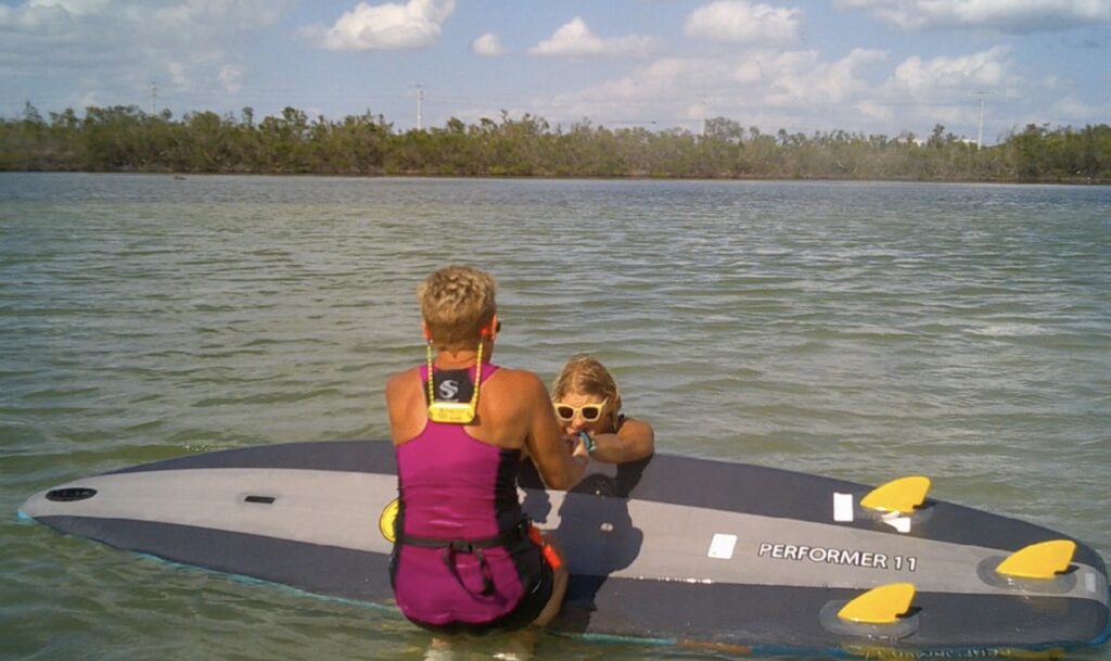
[[[802,12],[752,4],[747,0],[719,0],[687,17],[688,37],[750,44],[788,44],[799,41]]]

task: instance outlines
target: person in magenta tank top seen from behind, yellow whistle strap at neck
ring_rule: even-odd
[[[428,364],[386,387],[400,494],[390,563],[398,607],[433,631],[547,624],[567,568],[521,511],[518,470],[527,452],[549,487],[569,489],[587,449],[564,442],[536,374],[488,362],[501,327],[493,278],[448,267],[418,298]]]

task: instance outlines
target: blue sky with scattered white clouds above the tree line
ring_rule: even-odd
[[[1111,123],[1111,0],[0,0],[0,116],[27,103],[991,144]]]

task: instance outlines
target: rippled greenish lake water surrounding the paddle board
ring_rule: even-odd
[[[416,287],[450,262],[498,278],[499,362],[550,380],[595,353],[660,450],[924,473],[1111,560],[1111,188],[8,173],[0,658],[420,659],[394,611],[16,512],[134,463],[386,438],[384,380],[424,357]]]

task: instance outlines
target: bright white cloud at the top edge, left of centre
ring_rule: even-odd
[[[328,50],[393,50],[436,43],[456,0],[409,0],[404,4],[360,2],[322,33]]]

